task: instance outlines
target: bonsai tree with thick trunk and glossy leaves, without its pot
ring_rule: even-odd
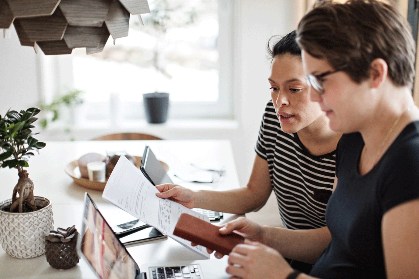
[[[18,113],[9,110],[4,117],[0,115],[0,164],[3,168],[9,167],[18,170],[19,180],[13,188],[10,212],[31,212],[38,210],[34,200],[34,183],[28,177],[28,172],[23,169],[28,167],[28,159],[34,156],[34,151],[45,147],[45,143],[34,138],[32,125],[38,120],[39,108],[28,108]],[[19,196],[18,196],[19,194]]]

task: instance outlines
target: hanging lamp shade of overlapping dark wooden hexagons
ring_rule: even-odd
[[[13,23],[22,46],[44,54],[101,52],[112,38],[128,36],[129,16],[150,13],[147,0],[0,0],[0,28]]]

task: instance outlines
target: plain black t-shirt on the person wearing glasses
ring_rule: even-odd
[[[361,176],[357,166],[363,146],[360,133],[343,135],[339,141],[338,185],[326,207],[332,240],[310,272],[312,276],[386,278],[383,215],[419,197],[419,121],[407,125],[374,168]]]

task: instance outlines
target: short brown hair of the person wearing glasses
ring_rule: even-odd
[[[325,2],[310,10],[297,28],[297,43],[308,54],[326,59],[354,82],[367,79],[372,60],[388,64],[396,86],[413,84],[415,43],[411,28],[392,6],[376,0]]]

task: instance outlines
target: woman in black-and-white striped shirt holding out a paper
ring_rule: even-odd
[[[247,186],[228,191],[191,191],[163,184],[157,186],[158,197],[170,197],[189,208],[243,214],[259,210],[274,190],[285,228],[326,225],[324,214],[341,134],[331,131],[325,113],[318,103],[310,101],[295,36],[292,31],[272,47],[268,43],[272,100],[262,118]]]

